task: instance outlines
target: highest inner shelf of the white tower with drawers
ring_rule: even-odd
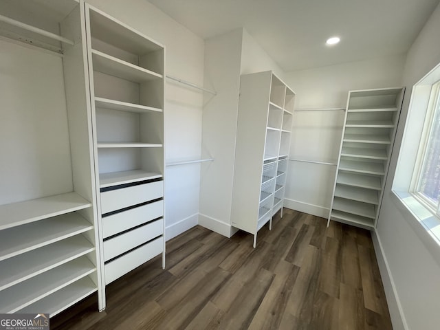
[[[119,58],[115,58],[98,50],[91,50],[93,58],[94,70],[130,80],[136,83],[144,83],[146,81],[162,79],[162,74],[157,74],[150,70],[138,67]]]

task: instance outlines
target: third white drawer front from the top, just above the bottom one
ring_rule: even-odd
[[[164,219],[159,219],[104,241],[104,261],[113,259],[115,256],[119,256],[163,233]]]

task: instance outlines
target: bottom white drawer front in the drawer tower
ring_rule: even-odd
[[[122,275],[134,270],[136,267],[142,265],[142,263],[146,263],[146,261],[153,259],[163,251],[164,237],[161,236],[154,241],[142,245],[140,248],[111,261],[111,263],[107,263],[104,266],[105,284],[107,285],[115,281],[116,278],[120,278]]]

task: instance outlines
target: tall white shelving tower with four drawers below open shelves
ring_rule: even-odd
[[[165,262],[164,47],[85,8],[107,285],[158,254]]]

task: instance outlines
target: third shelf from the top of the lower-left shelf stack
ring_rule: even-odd
[[[84,236],[76,235],[1,261],[0,291],[94,250]]]

